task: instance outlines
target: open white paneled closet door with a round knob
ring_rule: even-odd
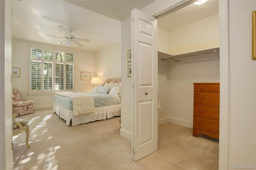
[[[132,81],[134,161],[157,150],[157,19],[132,10]]]

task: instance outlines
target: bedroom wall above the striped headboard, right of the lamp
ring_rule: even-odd
[[[96,52],[96,76],[100,82],[112,77],[121,77],[121,43],[111,44]]]

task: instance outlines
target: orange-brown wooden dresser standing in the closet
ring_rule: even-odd
[[[219,138],[220,83],[194,84],[193,136]]]

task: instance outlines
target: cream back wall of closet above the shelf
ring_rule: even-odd
[[[220,47],[219,15],[168,31],[168,52],[177,55]]]

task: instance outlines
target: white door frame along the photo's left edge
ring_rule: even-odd
[[[0,0],[0,22],[0,169],[13,169],[11,0]]]

